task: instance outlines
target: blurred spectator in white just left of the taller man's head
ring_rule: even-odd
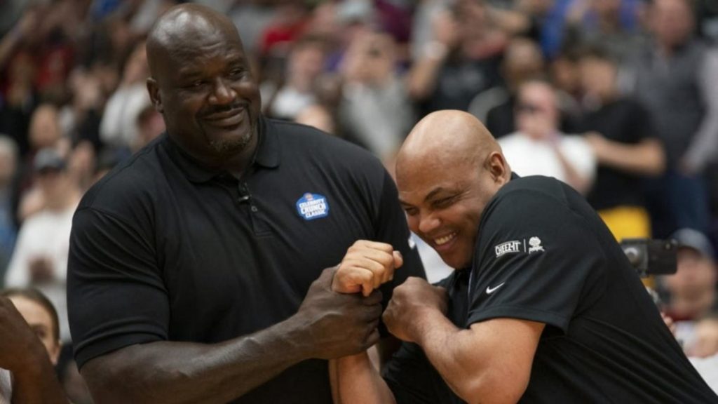
[[[104,144],[129,149],[138,142],[137,116],[151,104],[146,86],[148,77],[145,44],[139,42],[124,65],[120,86],[105,106],[100,124]]]

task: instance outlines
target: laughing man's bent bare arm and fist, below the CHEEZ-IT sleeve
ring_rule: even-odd
[[[516,403],[528,386],[543,323],[495,318],[458,329],[442,312],[441,288],[411,277],[396,288],[384,321],[419,344],[449,387],[467,403]]]

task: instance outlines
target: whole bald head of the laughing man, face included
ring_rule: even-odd
[[[471,265],[484,208],[510,175],[495,139],[462,111],[419,121],[396,160],[409,228],[457,269]]]

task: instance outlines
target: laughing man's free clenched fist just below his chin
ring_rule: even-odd
[[[382,319],[396,338],[414,342],[422,316],[428,311],[446,313],[446,290],[432,286],[419,277],[409,277],[394,289]]]

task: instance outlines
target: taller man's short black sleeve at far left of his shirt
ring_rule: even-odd
[[[78,367],[123,346],[166,340],[169,303],[151,242],[116,216],[80,208],[67,306]]]

